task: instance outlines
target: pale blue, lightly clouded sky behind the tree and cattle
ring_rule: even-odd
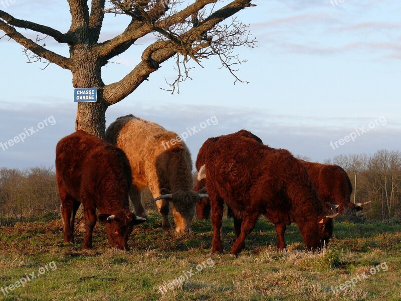
[[[106,126],[134,114],[177,134],[189,131],[186,144],[193,160],[208,137],[243,128],[269,146],[317,162],[382,148],[400,150],[401,3],[253,3],[257,6],[236,15],[257,40],[255,49],[235,50],[247,60],[237,75],[248,84],[234,84],[235,78],[212,57],[202,62],[204,68],[191,71],[192,80],[180,85],[179,94],[171,95],[161,89],[176,76],[170,60],[108,108]],[[67,1],[0,0],[0,10],[61,32],[70,26]],[[124,16],[107,15],[100,40],[118,35],[128,22]],[[114,64],[102,69],[103,81],[112,83],[130,72],[152,40],[144,37],[112,59]],[[68,56],[67,46],[51,39],[45,43]],[[27,63],[22,46],[7,37],[0,40],[0,54],[0,167],[52,167],[57,142],[74,131],[71,73],[54,64],[41,70],[44,64]],[[18,143],[10,145],[10,139]]]

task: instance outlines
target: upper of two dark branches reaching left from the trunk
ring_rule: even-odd
[[[41,24],[37,24],[30,21],[16,19],[13,16],[9,15],[8,13],[0,10],[0,19],[6,21],[9,25],[17,26],[20,28],[30,29],[36,31],[38,33],[45,34],[54,38],[59,43],[70,43],[71,40],[67,35],[62,34],[61,32],[50,28],[48,26],[44,26]]]

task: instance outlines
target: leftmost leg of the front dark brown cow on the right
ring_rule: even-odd
[[[213,226],[213,241],[212,241],[212,253],[223,253],[223,244],[221,240],[221,229],[223,225],[223,211],[224,201],[219,196],[211,196],[212,206],[212,226]]]

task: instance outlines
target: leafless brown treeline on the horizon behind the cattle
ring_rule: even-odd
[[[306,158],[303,158],[306,159]],[[325,164],[341,166],[352,182],[356,203],[372,201],[363,209],[370,220],[401,218],[401,153],[378,150],[374,155],[340,155]],[[356,189],[355,189],[356,174]],[[196,175],[194,179],[196,181]],[[25,220],[60,210],[55,172],[51,168],[25,170],[0,168],[0,224],[9,220]],[[150,193],[144,194],[145,208],[149,205]]]

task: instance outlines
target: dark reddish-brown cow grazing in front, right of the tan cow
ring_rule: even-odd
[[[336,215],[325,212],[305,167],[288,150],[274,149],[236,133],[211,144],[204,158],[214,229],[212,252],[223,252],[220,231],[224,201],[235,215],[233,255],[244,248],[245,238],[261,214],[278,224],[297,223],[307,250],[327,246]]]

